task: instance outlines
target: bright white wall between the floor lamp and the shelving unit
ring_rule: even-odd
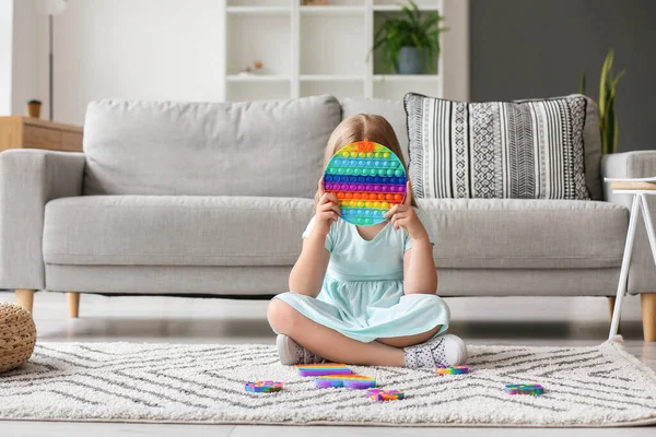
[[[223,94],[219,0],[68,3],[55,16],[56,121],[81,125],[86,104],[98,98],[218,101]],[[38,81],[47,107],[42,34]]]

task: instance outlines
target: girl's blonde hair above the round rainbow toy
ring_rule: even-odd
[[[344,145],[364,141],[367,139],[374,143],[383,144],[390,151],[393,151],[401,161],[406,174],[408,174],[408,165],[403,158],[399,140],[394,132],[394,128],[389,125],[389,121],[385,117],[372,115],[372,114],[356,114],[352,117],[345,118],[338,125],[337,128],[330,134],[328,144],[326,145],[326,152],[324,153],[324,169],[330,162],[330,158],[337,153],[338,150]],[[319,191],[315,194],[314,210],[316,210],[317,203],[319,202]],[[411,199],[412,206],[418,206],[414,201],[414,197]]]

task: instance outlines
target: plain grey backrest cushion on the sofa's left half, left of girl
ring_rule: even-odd
[[[92,102],[84,193],[312,198],[340,113],[331,96]]]

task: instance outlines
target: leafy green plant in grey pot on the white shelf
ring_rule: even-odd
[[[440,36],[447,31],[440,27],[444,16],[437,11],[422,13],[412,0],[402,7],[402,14],[387,16],[374,36],[372,52],[380,48],[384,64],[399,74],[421,74],[424,60],[440,57]],[[434,72],[434,63],[430,64]]]

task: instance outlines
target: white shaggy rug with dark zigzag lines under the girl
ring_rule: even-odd
[[[470,374],[359,367],[407,399],[316,389],[269,345],[37,344],[31,362],[0,374],[0,418],[389,426],[622,426],[656,423],[653,370],[607,342],[595,347],[469,346]],[[280,393],[244,382],[274,379]],[[541,397],[508,395],[537,382]]]

